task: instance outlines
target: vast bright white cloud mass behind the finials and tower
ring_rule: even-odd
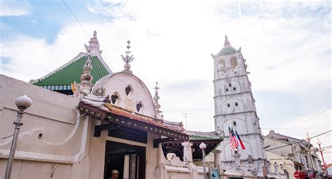
[[[237,3],[97,1],[89,4],[88,10],[101,13],[106,19],[114,17],[113,20],[82,24],[91,34],[97,30],[103,56],[115,71],[123,69],[120,55],[125,51],[125,42],[132,41],[135,57],[132,71],[151,92],[155,82],[159,82],[165,119],[184,121],[182,113],[193,113],[187,118],[188,129],[212,131],[214,120],[209,118],[214,115],[214,90],[210,53],[215,54],[223,47],[225,31],[231,45],[242,46],[254,94],[273,90],[304,97],[311,95],[310,89],[317,84],[331,87],[331,13],[292,14],[299,14],[299,9],[317,10],[323,6],[320,3],[242,3],[240,23]],[[87,42],[88,37],[78,24],[67,24],[53,44],[47,44],[45,39],[16,36],[1,44],[1,56],[11,59],[2,65],[1,73],[25,81],[40,78],[84,51],[83,43]],[[316,112],[303,110],[305,115]],[[261,117],[265,121],[268,118]],[[301,131],[293,135],[303,134]]]

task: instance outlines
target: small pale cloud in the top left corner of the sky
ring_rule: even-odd
[[[28,15],[31,10],[32,6],[24,0],[1,0],[0,2],[0,16]]]

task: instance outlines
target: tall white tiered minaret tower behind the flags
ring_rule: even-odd
[[[265,166],[266,155],[251,83],[247,76],[249,72],[247,72],[246,60],[242,57],[241,48],[235,50],[230,46],[227,36],[225,38],[224,47],[216,55],[212,55],[214,59],[214,124],[216,131],[225,131],[224,141],[219,146],[222,150],[222,164],[226,169],[239,170],[239,167],[235,166],[235,150],[230,149],[228,132],[230,127],[237,131],[246,148],[238,152],[241,170],[256,169],[258,173],[261,173],[262,166]]]

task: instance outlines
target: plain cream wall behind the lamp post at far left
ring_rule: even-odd
[[[15,99],[27,94],[33,103],[25,110],[15,152],[12,178],[69,178],[80,149],[83,122],[74,110],[76,99],[0,75],[0,137],[13,134]],[[39,134],[43,136],[38,138]],[[12,137],[0,140],[0,178],[4,177]]]

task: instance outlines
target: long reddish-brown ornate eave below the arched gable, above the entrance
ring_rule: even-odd
[[[110,103],[87,103],[86,101],[81,101],[78,104],[78,110],[80,110],[81,114],[90,115],[104,122],[167,136],[169,138],[184,141],[189,140],[188,134],[184,133],[184,131],[176,130],[172,126],[162,124],[162,121],[157,118],[134,113]]]

